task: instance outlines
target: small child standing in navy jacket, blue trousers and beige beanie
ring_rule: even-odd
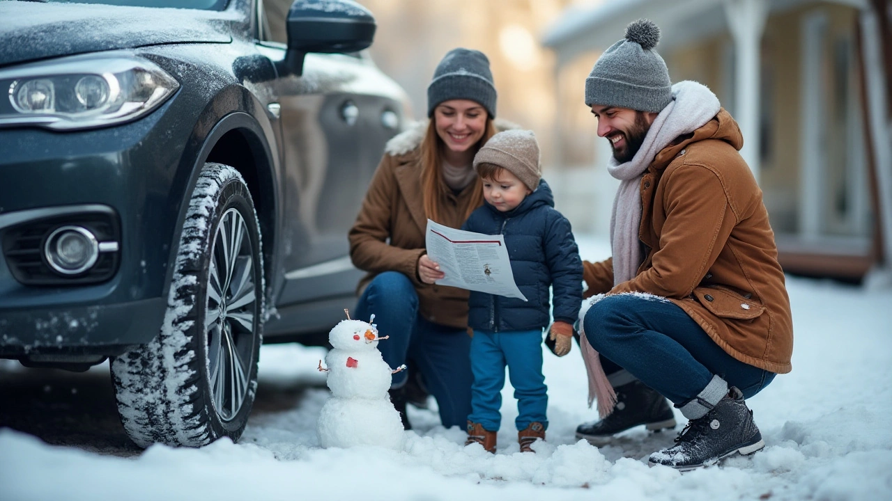
[[[541,181],[539,145],[526,130],[500,132],[475,155],[485,203],[462,229],[502,234],[514,280],[527,301],[471,292],[471,415],[465,445],[479,443],[495,453],[501,423],[505,365],[519,414],[515,424],[522,452],[545,439],[548,407],[542,375],[542,329],[549,324],[549,286],[554,287],[554,324],[549,337],[558,357],[570,351],[573,322],[582,302],[582,261],[569,221],[554,209],[549,185]]]

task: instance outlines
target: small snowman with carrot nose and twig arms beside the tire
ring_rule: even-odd
[[[344,310],[346,312],[346,310]],[[401,449],[404,440],[400,413],[393,408],[387,390],[391,375],[405,369],[392,370],[378,351],[378,337],[373,315],[369,322],[347,320],[328,333],[331,349],[326,365],[319,371],[328,373],[326,383],[332,391],[319,412],[317,431],[323,448],[349,448],[374,445]]]

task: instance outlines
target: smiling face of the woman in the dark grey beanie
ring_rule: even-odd
[[[483,106],[469,99],[450,99],[434,108],[437,136],[450,152],[469,152],[483,137],[487,117]]]

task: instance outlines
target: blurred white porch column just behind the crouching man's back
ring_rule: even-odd
[[[740,154],[759,179],[759,81],[760,44],[768,5],[765,0],[724,0],[725,17],[734,37],[735,95],[734,119],[743,134]]]

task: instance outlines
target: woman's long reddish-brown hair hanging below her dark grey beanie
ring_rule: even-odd
[[[483,144],[490,140],[490,137],[495,136],[496,132],[492,119],[487,117],[486,128],[483,129],[480,141],[474,145],[474,152],[480,150]],[[425,201],[425,215],[442,225],[458,227],[471,215],[471,212],[474,212],[474,209],[483,205],[483,184],[480,177],[475,177],[471,187],[474,193],[471,193],[471,202],[461,221],[443,221],[443,204],[450,191],[442,177],[442,148],[445,147],[446,144],[443,144],[442,139],[437,135],[434,119],[431,119],[427,124],[425,139],[421,143],[421,191]]]

